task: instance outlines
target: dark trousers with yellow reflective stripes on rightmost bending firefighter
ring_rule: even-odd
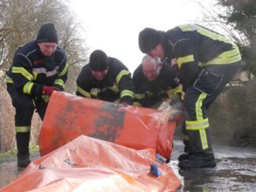
[[[196,82],[186,89],[183,105],[186,114],[182,133],[185,136],[185,148],[189,147],[192,153],[211,150],[206,109],[240,70],[240,65],[239,61],[227,65],[203,67]]]

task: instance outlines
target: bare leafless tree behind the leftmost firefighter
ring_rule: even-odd
[[[84,30],[67,1],[0,0],[0,70],[7,70],[15,50],[36,38],[38,28],[52,22],[59,34],[59,44],[68,53],[69,79],[66,90],[74,92],[75,78],[87,61]]]

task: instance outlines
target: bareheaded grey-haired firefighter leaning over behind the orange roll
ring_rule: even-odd
[[[134,103],[141,107],[152,107],[155,103],[171,98],[177,88],[178,79],[170,64],[159,57],[145,55],[133,72],[136,89]]]

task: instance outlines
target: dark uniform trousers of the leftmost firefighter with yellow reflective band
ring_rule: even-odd
[[[7,84],[7,91],[12,98],[15,107],[16,146],[18,157],[29,155],[29,141],[31,132],[31,120],[34,110],[38,111],[41,119],[46,113],[47,103],[42,98],[35,99],[32,96],[17,92],[13,84]]]

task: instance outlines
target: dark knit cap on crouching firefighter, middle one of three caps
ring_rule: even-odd
[[[93,71],[104,71],[108,69],[108,56],[101,50],[95,50],[90,54],[90,68]]]

